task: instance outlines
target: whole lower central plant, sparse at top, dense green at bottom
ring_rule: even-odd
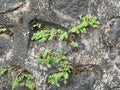
[[[67,61],[67,57],[64,54],[65,52],[59,48],[57,53],[53,54],[51,51],[45,50],[37,57],[37,61],[46,65],[48,68],[51,68],[53,63],[57,66],[57,73],[52,73],[48,76],[48,83],[57,87],[60,86],[60,81],[63,81],[64,84],[67,83],[67,79],[72,70],[72,65]]]

